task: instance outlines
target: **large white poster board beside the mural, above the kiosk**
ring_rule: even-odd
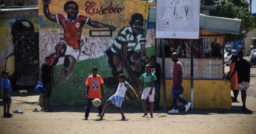
[[[157,1],[156,38],[199,38],[200,0]]]

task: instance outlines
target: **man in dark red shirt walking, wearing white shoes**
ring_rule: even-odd
[[[173,93],[173,109],[168,111],[169,114],[175,114],[179,113],[178,107],[177,107],[177,100],[179,100],[181,103],[183,103],[186,107],[185,112],[189,110],[189,107],[191,103],[184,100],[184,98],[180,97],[180,94],[183,93],[183,87],[182,87],[182,64],[180,63],[178,59],[177,52],[173,52],[172,54],[172,61],[173,64],[173,87],[172,87],[172,93]]]

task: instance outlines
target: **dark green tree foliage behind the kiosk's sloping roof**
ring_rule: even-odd
[[[254,20],[246,0],[201,0],[200,3],[205,6],[216,6],[216,10],[210,11],[209,15],[242,20],[239,35],[227,34],[226,41],[245,38],[246,34],[252,31]]]

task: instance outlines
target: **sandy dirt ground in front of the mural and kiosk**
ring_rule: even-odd
[[[97,121],[97,109],[92,109],[88,121],[83,121],[84,107],[53,106],[52,112],[40,110],[38,96],[13,97],[11,110],[19,108],[24,114],[12,118],[0,117],[0,133],[256,133],[256,68],[252,68],[252,80],[248,89],[247,112],[239,103],[232,110],[189,110],[168,115],[156,111],[154,118],[141,117],[141,108],[124,108],[127,121],[118,121],[120,114],[110,107],[103,121]],[[21,100],[21,101],[18,101]],[[3,106],[0,106],[3,113]]]

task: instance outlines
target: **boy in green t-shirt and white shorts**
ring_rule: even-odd
[[[146,100],[149,98],[150,102],[150,116],[153,117],[154,110],[154,96],[155,96],[155,82],[156,75],[151,73],[151,66],[147,64],[145,66],[146,73],[143,73],[140,77],[140,81],[143,82],[143,93],[141,95],[141,104],[143,107],[144,115],[142,117],[147,117],[147,108],[146,108]]]

